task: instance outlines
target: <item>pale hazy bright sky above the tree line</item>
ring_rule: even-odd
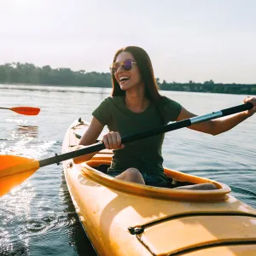
[[[0,65],[107,73],[137,45],[155,77],[256,83],[254,0],[0,0]]]

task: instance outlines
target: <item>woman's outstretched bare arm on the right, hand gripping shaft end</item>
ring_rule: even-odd
[[[203,122],[196,125],[191,125],[188,128],[195,131],[201,131],[208,134],[212,134],[212,135],[218,135],[224,131],[229,131],[230,129],[240,124],[242,121],[252,116],[253,113],[256,112],[256,96],[247,97],[244,100],[244,102],[245,103],[251,102],[254,107],[250,110],[247,110],[241,113],[236,113],[227,117],[210,120],[210,121]],[[189,119],[195,116],[196,115],[194,113],[190,113],[187,109],[182,108],[181,113],[177,117],[177,121],[180,121],[183,119]]]

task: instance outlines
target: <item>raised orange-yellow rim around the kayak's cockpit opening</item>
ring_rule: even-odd
[[[100,183],[102,186],[109,187],[111,189],[117,189],[119,191],[134,194],[143,195],[150,198],[169,198],[172,200],[182,201],[224,201],[227,194],[230,193],[230,187],[218,183],[216,181],[209,180],[203,177],[196,177],[183,172],[173,171],[165,168],[167,177],[172,177],[180,183],[214,183],[218,189],[214,190],[189,190],[189,189],[166,189],[160,187],[153,187],[148,185],[142,185],[138,183],[125,182],[115,177],[110,177],[106,174],[108,166],[111,163],[111,155],[109,154],[96,154],[92,160],[81,164],[81,172],[86,178],[91,181]]]

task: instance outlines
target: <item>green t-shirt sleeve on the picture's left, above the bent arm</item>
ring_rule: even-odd
[[[104,99],[101,104],[96,108],[92,115],[98,119],[102,125],[108,125],[108,122],[111,118],[111,104],[108,98]]]

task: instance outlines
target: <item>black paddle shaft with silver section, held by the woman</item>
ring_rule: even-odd
[[[238,105],[236,107],[232,107],[232,108],[225,108],[223,110],[220,110],[218,112],[212,112],[212,113],[207,113],[205,115],[201,115],[201,116],[196,116],[193,117],[191,119],[183,119],[181,121],[169,124],[169,125],[162,125],[158,128],[149,130],[149,131],[142,131],[139,132],[137,134],[131,135],[131,136],[127,136],[127,137],[122,137],[121,142],[122,143],[131,143],[133,141],[137,141],[137,140],[141,140],[143,138],[146,137],[152,137],[155,136],[157,134],[160,133],[165,133],[167,131],[174,131],[177,129],[181,129],[183,127],[188,127],[190,125],[195,125],[201,122],[205,122],[211,119],[218,119],[220,117],[226,116],[226,115],[230,115],[233,113],[239,113],[245,110],[249,110],[253,108],[253,104],[250,102],[247,102],[245,104],[241,104]],[[72,159],[74,157],[78,157],[84,154],[90,154],[93,152],[97,152],[100,151],[102,149],[106,148],[104,143],[100,142],[100,143],[95,143],[93,145],[90,145],[86,148],[82,148],[82,149],[78,149],[72,152],[68,152],[68,153],[64,153],[64,154],[55,154],[55,156],[49,157],[47,159],[44,160],[39,160],[39,166],[43,167],[43,166],[49,166],[51,164],[60,164],[61,161],[63,160],[68,160],[68,159]]]

